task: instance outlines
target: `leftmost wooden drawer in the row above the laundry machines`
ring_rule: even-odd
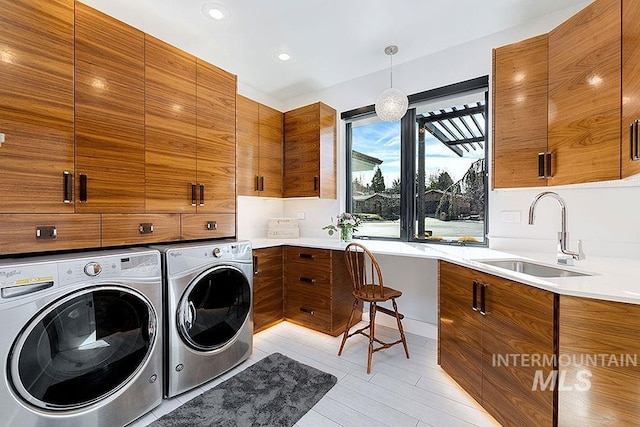
[[[0,223],[0,254],[100,246],[100,215],[4,214]]]

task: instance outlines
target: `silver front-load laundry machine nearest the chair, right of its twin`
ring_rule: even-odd
[[[253,348],[253,257],[247,241],[159,247],[165,273],[165,395],[246,360]]]

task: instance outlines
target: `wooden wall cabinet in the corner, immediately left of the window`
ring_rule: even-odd
[[[284,114],[284,197],[336,198],[336,111],[321,103]]]

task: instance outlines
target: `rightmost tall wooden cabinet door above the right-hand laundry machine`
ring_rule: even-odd
[[[198,213],[235,213],[236,76],[196,65]]]

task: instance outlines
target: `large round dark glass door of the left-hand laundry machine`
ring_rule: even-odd
[[[74,292],[41,310],[13,344],[10,382],[38,408],[68,411],[110,396],[144,366],[157,317],[119,286]]]

